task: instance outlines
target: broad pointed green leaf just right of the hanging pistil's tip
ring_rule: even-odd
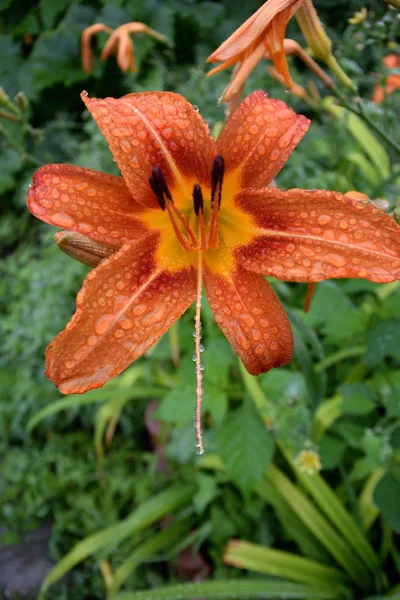
[[[217,449],[232,481],[247,495],[272,460],[274,441],[247,402],[228,415],[217,433]]]

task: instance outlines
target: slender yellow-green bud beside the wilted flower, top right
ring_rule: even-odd
[[[355,90],[354,83],[332,54],[332,41],[326,34],[312,0],[305,0],[296,13],[296,19],[314,58],[322,60],[343,85]]]

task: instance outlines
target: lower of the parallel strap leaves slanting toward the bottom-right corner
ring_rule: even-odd
[[[371,584],[368,570],[312,502],[274,465],[268,468],[267,479],[281,492],[289,506],[357,585],[367,589]]]

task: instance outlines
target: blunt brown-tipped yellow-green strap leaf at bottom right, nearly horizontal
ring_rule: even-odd
[[[315,560],[283,550],[273,550],[250,542],[232,540],[224,552],[228,565],[296,581],[330,585],[344,583],[346,577],[337,569],[318,564]]]

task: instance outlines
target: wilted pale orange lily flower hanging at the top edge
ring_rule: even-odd
[[[293,81],[284,49],[284,37],[288,22],[304,1],[267,0],[210,54],[207,62],[222,62],[222,64],[207,75],[214,75],[236,64],[232,81],[222,94],[222,102],[227,102],[240,92],[244,82],[266,53],[284,78],[287,87],[292,86]]]

